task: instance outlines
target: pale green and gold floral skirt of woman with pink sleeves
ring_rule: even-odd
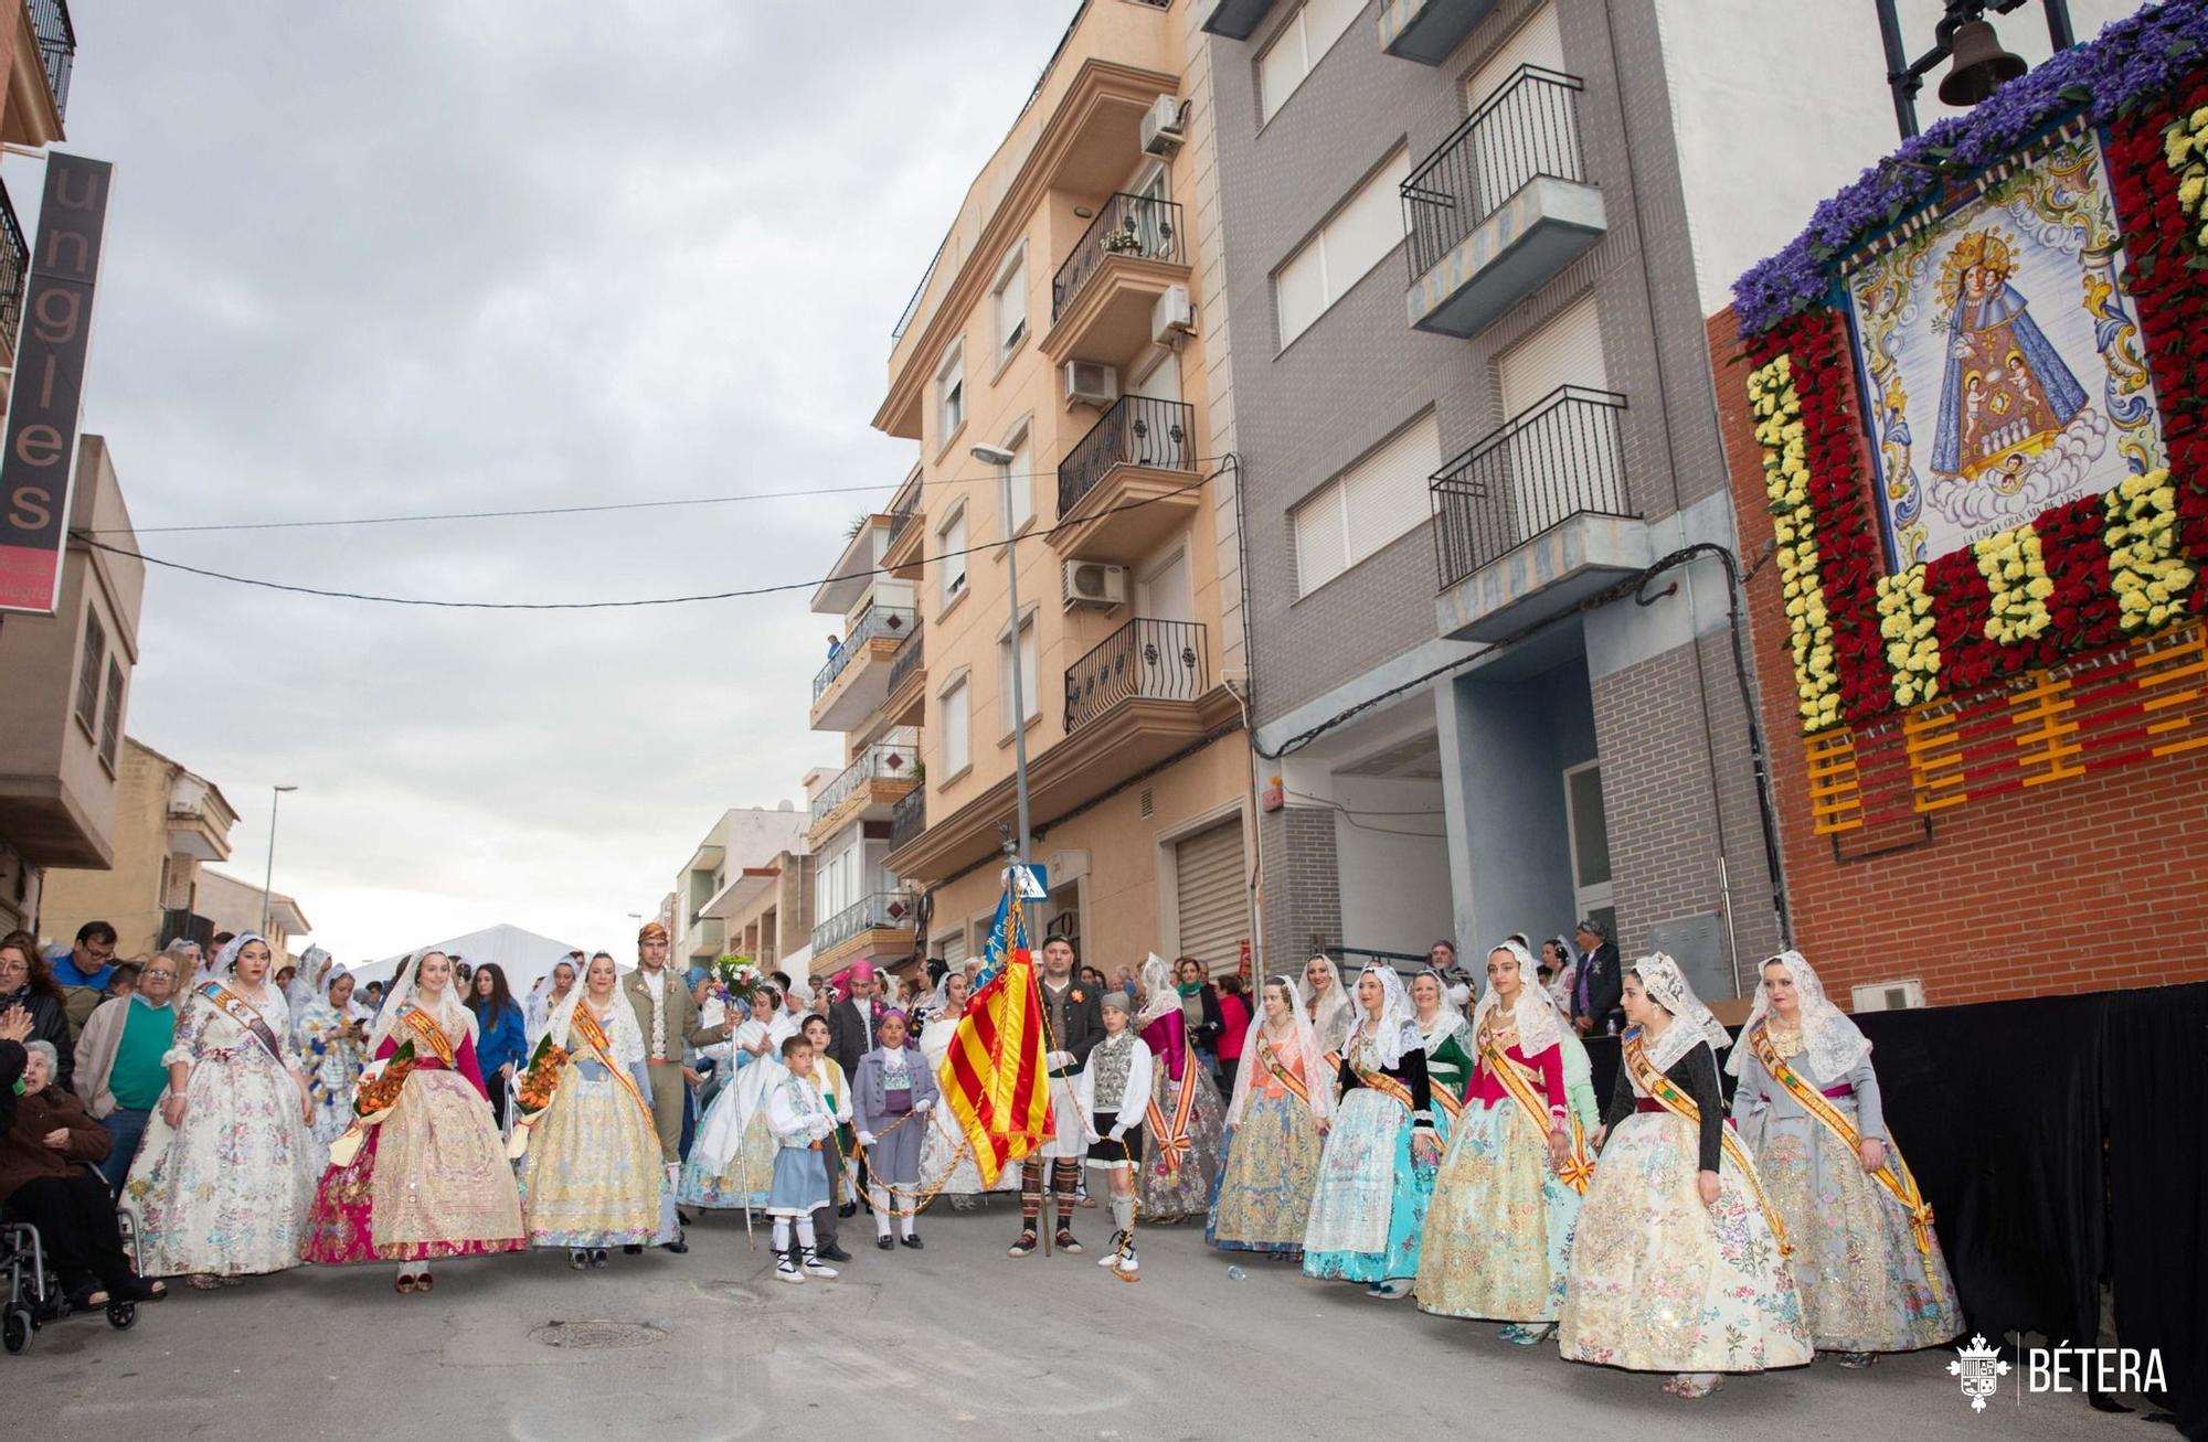
[[[1433,1182],[1418,1305],[1442,1316],[1550,1323],[1563,1310],[1579,1193],[1548,1164],[1548,1133],[1512,1100],[1466,1102]]]

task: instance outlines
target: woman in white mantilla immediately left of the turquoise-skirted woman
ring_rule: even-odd
[[[1241,1061],[1203,1239],[1228,1252],[1272,1252],[1287,1261],[1303,1252],[1318,1158],[1334,1122],[1334,1072],[1287,977],[1265,981]]]

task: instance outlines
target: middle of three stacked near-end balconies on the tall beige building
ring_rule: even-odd
[[[1058,463],[1051,545],[1069,560],[1133,564],[1201,505],[1195,408],[1124,395]]]

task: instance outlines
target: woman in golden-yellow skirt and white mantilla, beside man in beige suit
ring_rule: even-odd
[[[676,1204],[651,1124],[651,1067],[636,1008],[614,959],[598,953],[545,1025],[567,1054],[552,1102],[528,1127],[521,1215],[530,1246],[567,1248],[574,1270],[603,1268],[605,1248],[629,1255],[676,1239]],[[523,1065],[528,1058],[523,1058]]]

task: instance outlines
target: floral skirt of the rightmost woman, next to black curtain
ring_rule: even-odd
[[[1819,1352],[1914,1352],[1961,1336],[1963,1308],[1939,1237],[1930,1257],[1919,1252],[1908,1213],[1839,1138],[1795,1116],[1766,1118],[1742,1140],[1786,1222]]]

